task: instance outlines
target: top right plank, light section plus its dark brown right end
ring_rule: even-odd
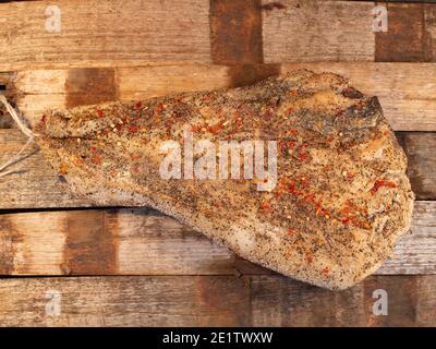
[[[436,61],[434,4],[298,0],[280,3],[280,8],[263,11],[267,63]],[[376,5],[387,9],[387,32],[373,31]]]

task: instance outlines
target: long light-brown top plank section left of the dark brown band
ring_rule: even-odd
[[[46,28],[49,5],[60,32]],[[211,62],[209,2],[62,0],[0,5],[0,71],[96,61]]]

